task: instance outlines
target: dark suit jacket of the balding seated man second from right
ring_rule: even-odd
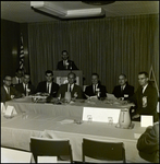
[[[124,99],[128,99],[134,94],[134,86],[126,84],[125,89],[121,93],[121,85],[116,85],[113,89],[112,94],[114,94],[115,97],[124,97]]]

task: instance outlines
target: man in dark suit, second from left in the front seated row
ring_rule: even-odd
[[[15,85],[15,89],[23,94],[23,96],[28,96],[35,93],[35,86],[30,83],[30,75],[25,73],[23,77],[23,82]]]

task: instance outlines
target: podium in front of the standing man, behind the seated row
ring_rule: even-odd
[[[67,74],[73,72],[76,74],[76,84],[83,87],[83,72],[79,70],[54,70],[54,82],[59,85],[67,83]]]

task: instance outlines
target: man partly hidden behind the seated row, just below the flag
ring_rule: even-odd
[[[16,69],[15,77],[12,78],[12,85],[15,86],[16,84],[22,83],[23,71],[21,69]]]

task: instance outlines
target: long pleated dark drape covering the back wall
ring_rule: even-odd
[[[28,49],[35,85],[47,69],[57,68],[63,49],[83,70],[84,84],[90,84],[90,74],[97,72],[112,92],[123,72],[137,89],[138,72],[149,72],[151,66],[159,83],[158,14],[29,23]]]

